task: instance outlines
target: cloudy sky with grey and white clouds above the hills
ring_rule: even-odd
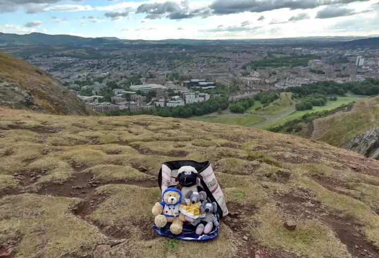
[[[0,32],[143,40],[379,35],[379,0],[0,0]]]

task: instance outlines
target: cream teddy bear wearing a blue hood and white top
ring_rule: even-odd
[[[183,221],[179,218],[179,207],[182,201],[182,192],[176,188],[167,188],[162,193],[162,201],[152,207],[155,216],[155,225],[164,227],[171,222],[170,231],[178,235],[183,231]]]

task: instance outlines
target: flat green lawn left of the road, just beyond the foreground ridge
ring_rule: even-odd
[[[209,123],[220,123],[228,125],[250,126],[264,122],[263,117],[252,115],[212,115],[191,118],[190,120],[204,121]]]

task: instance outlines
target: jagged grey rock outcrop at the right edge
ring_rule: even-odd
[[[345,147],[346,149],[359,152],[367,158],[379,160],[379,127],[355,135]]]

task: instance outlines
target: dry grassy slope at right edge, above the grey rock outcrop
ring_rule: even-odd
[[[312,139],[344,146],[356,134],[379,126],[379,97],[358,100],[350,112],[314,121]]]

